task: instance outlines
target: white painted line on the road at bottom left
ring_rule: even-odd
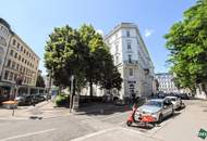
[[[57,130],[57,129],[52,128],[52,129],[37,131],[37,132],[29,132],[29,133],[25,133],[25,134],[19,134],[19,136],[13,136],[13,137],[10,137],[10,138],[0,139],[0,141],[9,141],[9,140],[17,139],[17,138],[25,138],[25,137],[29,137],[29,136],[36,136],[36,134],[40,134],[40,133],[45,133],[45,132],[49,132],[49,131],[54,131],[54,130]]]

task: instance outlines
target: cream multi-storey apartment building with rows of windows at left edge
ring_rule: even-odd
[[[38,55],[0,18],[0,82],[36,86]]]

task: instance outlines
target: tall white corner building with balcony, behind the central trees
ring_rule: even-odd
[[[114,65],[123,78],[120,99],[148,97],[153,92],[154,65],[137,25],[121,23],[107,36],[105,42],[113,55]]]

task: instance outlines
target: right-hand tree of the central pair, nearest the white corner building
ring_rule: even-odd
[[[95,85],[106,85],[102,84],[102,79],[106,75],[105,65],[106,63],[111,63],[112,60],[107,60],[107,57],[112,57],[109,48],[104,42],[104,39],[100,34],[98,34],[92,25],[83,25],[80,29],[80,35],[82,38],[82,42],[85,47],[88,48],[87,54],[85,54],[86,61],[86,80],[89,84],[89,93],[93,97],[93,84]],[[111,73],[113,68],[110,67],[108,74]],[[114,82],[114,81],[113,81]]]

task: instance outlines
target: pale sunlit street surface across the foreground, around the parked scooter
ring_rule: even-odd
[[[199,141],[207,129],[207,102],[185,101],[186,108],[153,129],[126,127],[131,111],[117,113],[65,114],[47,119],[0,120],[0,141]]]

